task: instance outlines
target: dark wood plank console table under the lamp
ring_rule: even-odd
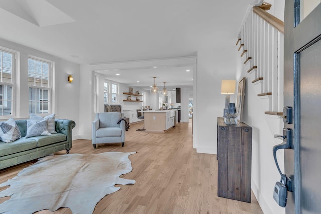
[[[251,202],[252,127],[217,118],[217,196]]]

